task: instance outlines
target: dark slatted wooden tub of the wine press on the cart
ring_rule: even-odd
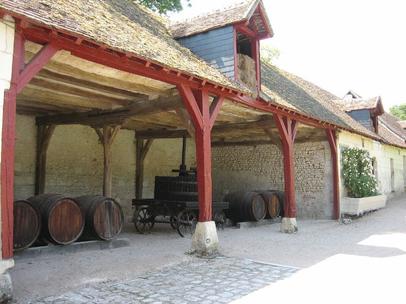
[[[155,176],[154,199],[198,202],[196,176]]]

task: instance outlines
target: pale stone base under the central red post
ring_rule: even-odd
[[[217,252],[219,238],[214,221],[197,222],[192,236],[192,248],[198,254],[212,255]]]

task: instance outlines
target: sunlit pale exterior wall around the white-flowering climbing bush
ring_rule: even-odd
[[[341,170],[341,149],[340,144],[349,147],[362,147],[369,151],[369,156],[375,159],[378,169],[379,191],[385,194],[388,199],[404,193],[403,180],[403,156],[406,156],[406,149],[382,144],[369,138],[342,131],[337,136],[339,143],[339,172]],[[391,166],[390,159],[393,159],[394,189],[391,187]],[[341,173],[339,173],[341,175]],[[347,196],[347,189],[340,180],[340,197]]]

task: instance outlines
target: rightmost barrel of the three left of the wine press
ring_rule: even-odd
[[[120,204],[100,195],[84,195],[76,199],[85,212],[85,229],[80,240],[108,241],[115,239],[124,224]]]

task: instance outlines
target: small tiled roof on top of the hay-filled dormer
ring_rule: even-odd
[[[229,24],[235,24],[241,21],[247,21],[251,18],[251,16],[253,16],[253,13],[258,5],[260,5],[262,8],[266,27],[269,28],[270,34],[273,35],[272,27],[270,27],[269,20],[266,17],[266,13],[261,0],[248,0],[243,3],[234,4],[231,7],[219,9],[204,15],[193,17],[191,19],[177,21],[170,24],[169,30],[172,33],[173,37],[175,39],[178,39],[180,37],[205,32],[209,29],[223,27]],[[257,18],[254,18],[254,20],[255,19]],[[257,28],[259,27],[260,26],[257,26]],[[261,32],[259,32],[259,34],[261,34]]]

